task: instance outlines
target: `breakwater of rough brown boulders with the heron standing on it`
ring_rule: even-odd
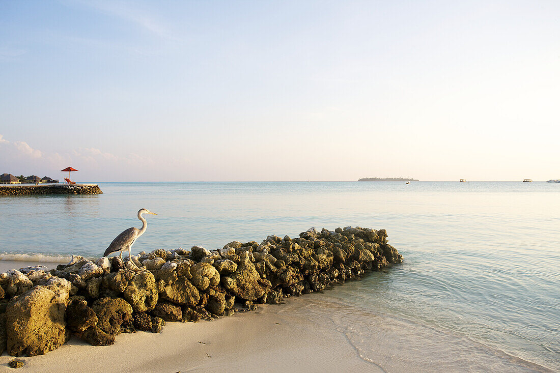
[[[48,271],[0,274],[0,352],[40,355],[71,335],[94,346],[120,333],[158,333],[166,321],[212,320],[257,304],[323,291],[402,262],[385,230],[314,228],[291,239],[233,241],[222,249],[153,250],[119,257],[74,256]]]

